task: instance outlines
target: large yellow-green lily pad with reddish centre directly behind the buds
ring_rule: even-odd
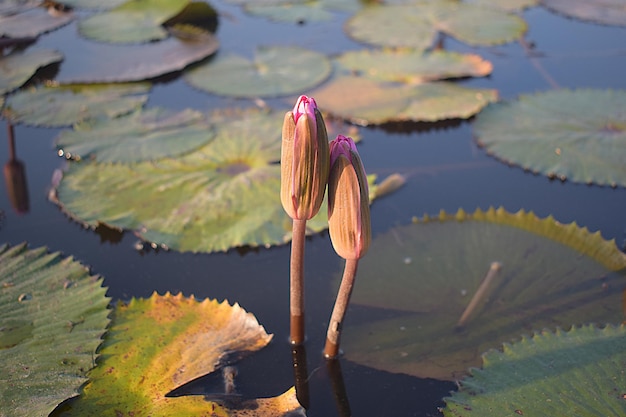
[[[215,139],[178,157],[71,162],[53,197],[85,225],[129,229],[183,252],[289,242],[291,219],[280,204],[277,163],[283,116],[251,110],[212,114]],[[373,179],[370,186],[374,197]],[[309,233],[328,227],[325,206],[307,227]]]

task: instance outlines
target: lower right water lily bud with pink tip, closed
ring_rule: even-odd
[[[337,136],[330,143],[328,228],[335,252],[359,259],[372,240],[369,188],[361,157],[352,138]]]

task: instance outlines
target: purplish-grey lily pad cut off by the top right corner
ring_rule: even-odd
[[[550,10],[576,19],[626,26],[623,0],[541,0],[541,3]]]

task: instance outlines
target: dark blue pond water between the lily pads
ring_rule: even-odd
[[[331,22],[293,25],[254,18],[223,2],[212,4],[221,13],[217,31],[220,51],[249,55],[257,45],[297,44],[335,54],[362,47],[342,32],[347,15],[341,13]],[[529,24],[526,40],[534,46],[530,55],[519,43],[473,48],[444,40],[447,49],[477,53],[494,65],[489,77],[463,80],[463,84],[495,88],[503,99],[557,86],[626,89],[626,28],[574,21],[541,7],[523,12],[523,17]],[[78,39],[74,23],[42,36],[37,45],[63,51],[67,58],[59,75],[68,76],[72,67],[80,65],[85,41]],[[208,111],[252,105],[248,100],[224,99],[193,90],[179,75],[156,80],[148,106]],[[286,109],[292,102],[291,98],[275,99],[268,100],[268,104]],[[454,212],[460,207],[473,211],[477,207],[503,206],[511,212],[533,211],[540,217],[552,214],[563,223],[576,221],[592,231],[599,230],[623,247],[623,188],[551,181],[507,166],[475,144],[471,123],[403,124],[360,130],[363,140],[359,149],[368,172],[380,177],[400,172],[407,177],[404,187],[372,206],[374,236],[392,226],[410,223],[413,216],[436,214],[441,209]],[[47,198],[53,172],[65,163],[56,155],[53,144],[58,132],[15,127],[17,155],[26,166],[30,210],[16,214],[3,188],[0,242],[26,241],[31,247],[47,246],[74,256],[105,277],[114,299],[170,291],[236,301],[274,334],[270,346],[239,364],[237,381],[242,393],[255,397],[277,395],[293,385],[292,352],[287,342],[289,246],[192,255],[137,250],[138,239],[129,232],[86,230]],[[0,131],[0,141],[7,143],[6,129]],[[0,147],[0,160],[8,159],[8,148]],[[306,357],[311,374],[307,415],[346,415],[346,399],[337,405],[329,377],[332,372],[321,356],[335,294],[331,282],[341,271],[327,233],[308,239],[306,259]],[[357,416],[437,415],[442,398],[455,389],[450,382],[386,373],[343,359],[339,363],[347,401]],[[213,382],[207,378],[189,387],[189,391],[210,391]]]

